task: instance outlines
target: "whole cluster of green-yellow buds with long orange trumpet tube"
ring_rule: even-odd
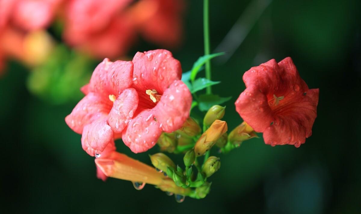
[[[168,192],[168,195],[174,194],[178,202],[182,202],[185,196],[204,198],[211,185],[207,179],[221,167],[219,157],[209,156],[212,147],[216,145],[226,152],[238,147],[244,140],[257,137],[256,132],[245,122],[227,134],[227,123],[220,120],[224,114],[225,107],[212,106],[203,120],[203,134],[198,123],[188,118],[179,130],[161,135],[157,142],[161,150],[185,153],[185,168],[176,165],[164,153],[149,155],[155,168],[117,152],[108,158],[97,158],[96,164],[106,176],[130,180],[136,189],[149,183]],[[203,164],[197,160],[201,156],[204,156]]]

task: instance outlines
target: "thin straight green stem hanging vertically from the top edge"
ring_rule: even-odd
[[[204,36],[204,54],[210,54],[210,44],[209,44],[209,0],[203,1],[203,36]],[[205,63],[205,77],[210,80],[211,72],[210,72],[210,61],[208,60]],[[207,94],[212,93],[212,89],[210,86],[206,88]]]

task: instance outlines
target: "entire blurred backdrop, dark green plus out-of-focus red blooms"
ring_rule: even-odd
[[[232,96],[225,104],[229,129],[242,122],[234,102],[245,88],[243,73],[271,58],[291,56],[309,88],[320,88],[318,117],[300,148],[270,147],[260,138],[219,154],[210,194],[181,204],[152,185],[137,191],[128,181],[97,179],[94,158],[64,118],[104,57],[131,60],[136,51],[167,48],[190,70],[204,54],[203,1],[109,1],[104,9],[106,1],[29,2],[0,0],[2,210],[360,212],[359,0],[210,0],[211,50],[227,52],[212,61],[212,79],[222,81],[213,92]],[[148,154],[159,151],[133,154],[116,144],[149,165]]]

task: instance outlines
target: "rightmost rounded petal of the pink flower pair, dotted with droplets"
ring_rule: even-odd
[[[187,120],[191,105],[192,95],[187,85],[181,80],[175,80],[164,91],[153,110],[162,130],[172,132],[181,128]]]

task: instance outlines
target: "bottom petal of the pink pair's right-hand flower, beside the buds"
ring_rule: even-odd
[[[144,110],[129,123],[123,131],[123,142],[134,153],[145,152],[152,148],[162,130],[154,120],[153,110]]]

